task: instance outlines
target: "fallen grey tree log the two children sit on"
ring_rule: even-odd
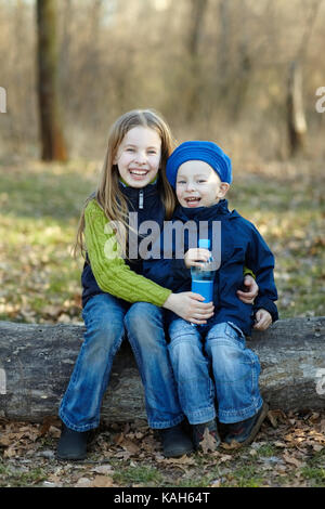
[[[82,324],[0,322],[0,416],[39,422],[57,415],[83,338]],[[325,407],[325,317],[276,322],[247,341],[262,366],[260,388],[271,408]],[[125,341],[105,393],[102,419],[145,419],[143,389]]]

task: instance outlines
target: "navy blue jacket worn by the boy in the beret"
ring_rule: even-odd
[[[198,231],[199,221],[206,221],[208,235],[213,251],[212,222],[221,222],[221,265],[216,272],[213,303],[213,322],[233,322],[245,335],[251,334],[253,313],[258,309],[265,309],[272,315],[272,319],[278,318],[274,301],[277,292],[274,284],[273,269],[274,257],[252,223],[244,219],[238,212],[227,209],[225,199],[211,207],[199,207],[195,209],[178,207],[172,221],[195,221]],[[184,235],[184,252],[188,249],[188,235]],[[169,238],[169,237],[168,237]],[[202,237],[202,238],[206,238]],[[164,232],[160,237],[160,259],[144,261],[143,275],[154,282],[170,288],[174,292],[191,290],[191,271],[185,267],[183,260],[164,259],[162,252],[166,246]],[[190,246],[194,247],[194,246]],[[172,246],[167,246],[176,252],[176,238]],[[244,266],[249,267],[256,275],[259,285],[259,295],[255,305],[242,302],[236,291],[243,285]],[[176,315],[173,315],[176,317]],[[211,318],[212,319],[212,318]]]

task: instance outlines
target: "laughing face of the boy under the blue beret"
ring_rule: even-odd
[[[190,160],[179,167],[176,192],[182,207],[210,207],[229,190],[218,173],[205,161]]]

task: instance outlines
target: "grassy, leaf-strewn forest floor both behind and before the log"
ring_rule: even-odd
[[[0,159],[0,319],[80,323],[74,260],[79,211],[98,162]],[[325,315],[322,161],[246,162],[230,208],[252,221],[276,258],[282,318]],[[166,459],[143,421],[100,429],[89,459],[55,459],[58,422],[0,421],[0,486],[325,486],[325,413],[272,410],[253,444]]]

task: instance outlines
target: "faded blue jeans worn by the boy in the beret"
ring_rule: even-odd
[[[229,323],[192,326],[178,318],[169,335],[181,407],[192,425],[217,415],[220,422],[238,422],[260,409],[260,364],[240,329]]]

